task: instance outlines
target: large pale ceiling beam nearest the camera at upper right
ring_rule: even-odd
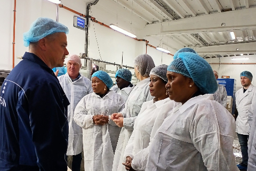
[[[236,18],[234,18],[236,16]],[[201,15],[181,20],[166,21],[146,25],[140,36],[198,34],[200,32],[225,32],[236,30],[256,30],[256,20],[246,20],[256,16],[256,8]],[[225,23],[225,24],[223,24]]]

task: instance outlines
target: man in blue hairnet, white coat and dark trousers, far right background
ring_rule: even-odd
[[[252,83],[252,74],[243,71],[240,74],[242,88],[236,92],[236,108],[238,116],[236,119],[236,133],[241,145],[242,162],[237,165],[240,170],[247,170],[248,162],[248,139],[250,125],[248,123],[248,110],[251,108],[252,100],[255,98],[256,87]]]

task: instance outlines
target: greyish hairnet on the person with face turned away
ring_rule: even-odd
[[[155,67],[153,59],[148,54],[141,54],[137,56],[134,59],[134,64],[138,67],[138,71],[143,77],[149,77],[151,69]]]

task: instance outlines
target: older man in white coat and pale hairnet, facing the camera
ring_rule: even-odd
[[[83,150],[83,131],[74,119],[77,103],[87,94],[92,93],[91,81],[79,73],[82,67],[81,59],[77,55],[70,55],[67,59],[67,73],[59,76],[60,85],[65,92],[68,105],[68,150],[67,156],[73,156],[72,170],[80,171]]]

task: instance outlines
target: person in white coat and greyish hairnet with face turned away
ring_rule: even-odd
[[[118,138],[115,157],[113,161],[113,171],[125,170],[123,155],[125,146],[132,134],[134,120],[137,118],[142,103],[150,101],[153,96],[149,92],[149,73],[152,68],[155,67],[155,63],[151,56],[148,54],[142,54],[134,60],[134,71],[136,77],[140,82],[133,88],[128,99],[125,102],[125,108],[120,113],[113,113],[111,119],[114,119],[115,123],[122,127],[121,133]]]

